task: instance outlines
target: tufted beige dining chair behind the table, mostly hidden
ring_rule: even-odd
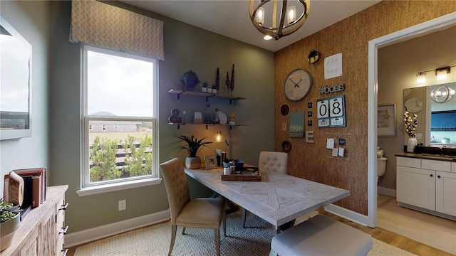
[[[261,151],[259,152],[258,168],[261,174],[276,171],[286,174],[286,165],[288,163],[288,154],[286,152]],[[245,219],[247,210],[242,210],[242,226],[245,228]]]

